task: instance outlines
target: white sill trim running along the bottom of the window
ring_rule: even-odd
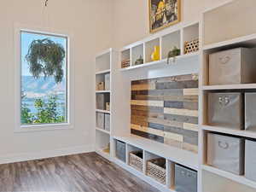
[[[34,131],[58,131],[58,130],[71,130],[73,125],[65,124],[55,124],[55,125],[20,125],[15,129],[15,132],[34,132]]]

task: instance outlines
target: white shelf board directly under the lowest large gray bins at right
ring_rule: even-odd
[[[249,186],[253,189],[256,189],[256,183],[247,179],[244,176],[238,176],[238,175],[235,175],[233,173],[225,172],[225,171],[222,171],[222,170],[219,170],[217,168],[214,168],[212,166],[207,166],[207,165],[203,165],[202,169],[207,171],[207,172],[212,172],[212,173],[217,174],[219,176],[229,178],[230,180],[233,180],[236,183],[245,184],[245,185],[247,185],[247,186]]]

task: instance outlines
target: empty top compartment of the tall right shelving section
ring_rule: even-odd
[[[230,1],[231,2],[231,1]],[[203,45],[218,44],[256,32],[255,1],[232,1],[203,13]],[[236,18],[236,19],[234,19]]]

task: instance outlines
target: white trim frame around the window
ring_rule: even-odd
[[[72,32],[52,31],[47,27],[25,26],[15,24],[15,132],[28,131],[56,131],[70,130],[74,128],[74,59],[73,47],[70,49],[70,41],[73,41]],[[21,125],[20,124],[20,73],[21,73],[21,49],[20,49],[20,32],[36,32],[49,35],[61,36],[67,38],[67,123],[45,124],[45,125]],[[62,33],[62,34],[61,34]],[[63,33],[65,35],[63,35]],[[71,65],[73,63],[73,65]]]

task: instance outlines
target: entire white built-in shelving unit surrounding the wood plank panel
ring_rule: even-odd
[[[253,131],[239,131],[207,125],[207,94],[209,92],[218,90],[256,90],[256,82],[255,84],[221,85],[210,85],[208,83],[208,58],[210,54],[237,47],[256,47],[256,34],[253,29],[255,27],[244,29],[240,27],[240,23],[237,24],[236,20],[233,20],[233,15],[237,15],[238,12],[246,13],[247,9],[251,13],[255,12],[253,6],[249,8],[245,5],[246,3],[242,2],[228,1],[228,3],[224,3],[220,7],[207,9],[202,15],[202,20],[190,23],[189,25],[180,24],[162,32],[154,33],[148,38],[125,46],[125,48],[119,51],[119,55],[114,55],[112,49],[97,55],[96,77],[110,73],[112,84],[110,90],[96,90],[96,94],[109,94],[110,101],[114,101],[111,102],[110,111],[96,109],[96,113],[109,113],[112,122],[110,131],[104,131],[96,127],[96,152],[98,154],[137,175],[161,191],[175,192],[175,164],[197,171],[198,192],[253,192],[256,190],[256,183],[246,177],[237,176],[207,165],[208,132],[256,139],[256,132]],[[237,17],[243,21],[252,20],[252,18],[248,18],[248,15],[239,14]],[[246,24],[244,26],[248,27],[247,22],[243,24]],[[234,27],[236,30],[234,30]],[[222,29],[221,32],[219,32],[220,28]],[[196,38],[199,38],[200,42],[199,51],[185,54],[185,42]],[[160,46],[159,61],[151,60],[154,46]],[[167,65],[167,54],[174,46],[181,49],[181,54],[176,56],[175,61],[171,59],[170,64]],[[139,57],[143,58],[143,63],[136,65],[135,62]],[[121,61],[128,61],[127,63],[130,63],[130,66],[121,68]],[[131,80],[169,77],[186,73],[200,73],[199,154],[131,135]],[[99,80],[102,79],[99,78]],[[96,78],[96,82],[98,81]],[[119,160],[116,156],[116,141],[125,143],[125,162]],[[108,143],[110,143],[110,154],[106,154],[102,150]],[[146,160],[151,157],[158,156],[166,159],[166,184],[159,183],[153,178],[148,177],[145,168],[143,168],[143,172],[139,172],[137,169],[129,166],[128,155],[134,148],[143,150],[144,166]]]

